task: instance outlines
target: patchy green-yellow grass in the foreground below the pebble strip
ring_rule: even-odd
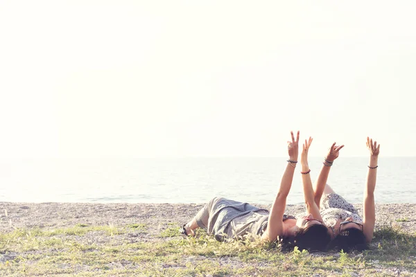
[[[391,226],[374,232],[370,250],[349,254],[281,251],[278,244],[259,240],[217,242],[200,230],[196,238],[184,238],[179,226],[166,224],[158,235],[150,235],[144,224],[0,233],[0,276],[416,274],[416,236]]]

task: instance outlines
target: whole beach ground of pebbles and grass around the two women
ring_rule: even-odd
[[[1,202],[0,276],[270,276],[281,270],[285,276],[309,276],[311,269],[313,276],[416,276],[415,247],[410,245],[415,242],[416,204],[376,205],[376,230],[393,226],[408,234],[408,242],[400,242],[407,252],[395,264],[390,261],[401,251],[397,241],[381,249],[377,238],[365,262],[360,253],[350,258],[340,253],[296,256],[233,251],[206,238],[184,240],[179,226],[202,206]],[[361,204],[354,206],[362,214]],[[302,205],[286,209],[288,215],[302,211]],[[245,261],[245,255],[259,258]]]

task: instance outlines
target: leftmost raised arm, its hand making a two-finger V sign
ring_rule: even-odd
[[[277,239],[277,236],[284,235],[283,215],[286,208],[286,197],[288,197],[289,191],[291,190],[293,174],[297,163],[299,131],[297,131],[296,140],[293,132],[291,132],[291,136],[292,141],[288,141],[288,164],[281,177],[279,191],[270,209],[267,228],[263,235],[261,235],[261,240],[274,241]]]

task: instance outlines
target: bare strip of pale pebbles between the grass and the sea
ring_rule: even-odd
[[[29,203],[0,202],[0,231],[20,228],[54,229],[76,224],[124,226],[146,224],[154,231],[166,224],[185,224],[204,204],[150,203]],[[270,205],[253,204],[270,209]],[[354,204],[363,215],[362,204]],[[304,206],[286,206],[288,215],[297,215]],[[416,233],[416,204],[376,204],[376,229],[379,226],[401,227],[406,233]]]

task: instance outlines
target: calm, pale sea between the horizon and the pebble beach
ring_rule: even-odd
[[[367,160],[336,160],[328,184],[362,202]],[[314,181],[322,158],[309,164]],[[271,204],[285,166],[285,158],[1,160],[0,201],[205,203],[223,196]],[[376,202],[416,203],[415,168],[415,157],[381,157]],[[303,202],[299,172],[288,204]]]

